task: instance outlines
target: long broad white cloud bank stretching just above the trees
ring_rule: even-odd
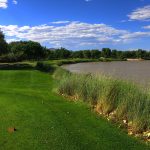
[[[53,47],[100,46],[101,44],[123,44],[137,38],[150,37],[150,32],[129,32],[106,24],[70,22],[59,26],[0,25],[7,40],[33,40]]]

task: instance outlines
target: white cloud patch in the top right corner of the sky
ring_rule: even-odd
[[[150,5],[134,10],[128,17],[130,20],[150,21]]]

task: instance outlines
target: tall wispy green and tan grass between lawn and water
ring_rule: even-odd
[[[131,134],[150,131],[150,95],[127,81],[104,76],[72,74],[57,69],[58,92],[90,103],[99,112],[130,130]]]

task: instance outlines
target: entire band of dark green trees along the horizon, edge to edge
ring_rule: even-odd
[[[150,59],[150,52],[146,50],[119,51],[103,48],[102,50],[71,51],[65,48],[48,49],[34,41],[17,41],[7,43],[5,36],[0,31],[0,62],[17,62],[23,60],[48,60],[69,58],[113,58],[123,60],[126,58]]]

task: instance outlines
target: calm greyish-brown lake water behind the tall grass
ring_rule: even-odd
[[[94,73],[150,85],[150,61],[96,62],[64,65],[77,73]]]

